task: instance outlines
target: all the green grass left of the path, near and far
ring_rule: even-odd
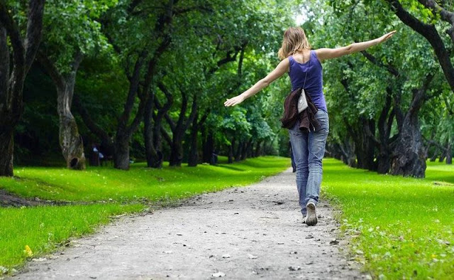
[[[224,162],[225,158],[220,158]],[[0,178],[0,188],[26,198],[89,202],[88,205],[0,208],[0,275],[30,257],[51,252],[70,237],[93,232],[111,215],[138,212],[148,201],[174,201],[198,193],[249,185],[289,167],[289,158],[265,156],[240,163],[165,167],[134,163],[130,171],[111,167],[70,171],[60,167],[16,168],[14,178]],[[107,203],[101,203],[107,202]]]

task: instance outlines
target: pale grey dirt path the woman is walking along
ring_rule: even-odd
[[[301,223],[294,174],[123,217],[12,279],[362,279],[331,242],[332,211]],[[341,242],[342,244],[342,242]],[[213,276],[214,275],[214,276]]]

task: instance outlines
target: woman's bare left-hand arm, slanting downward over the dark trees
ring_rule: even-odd
[[[232,97],[231,99],[227,99],[226,102],[224,102],[224,106],[229,107],[229,106],[235,106],[237,104],[240,104],[243,102],[245,99],[248,99],[249,97],[255,95],[257,92],[260,92],[264,87],[269,86],[274,80],[276,80],[278,77],[284,75],[286,72],[289,71],[289,59],[285,58],[282,60],[275,68],[275,70],[272,70],[270,74],[268,74],[266,77],[264,77],[262,80],[258,81],[250,87],[249,90],[246,90],[240,95],[237,95],[236,97]]]

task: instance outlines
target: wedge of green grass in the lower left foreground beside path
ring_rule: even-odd
[[[33,257],[38,257],[52,252],[70,237],[93,232],[96,226],[109,222],[111,215],[143,208],[138,203],[1,208],[0,266],[11,269],[25,262],[29,257],[24,252],[26,245]],[[0,275],[1,270],[0,267]]]

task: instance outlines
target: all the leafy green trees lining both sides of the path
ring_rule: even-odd
[[[323,63],[327,149],[350,166],[423,177],[428,156],[452,161],[453,10],[432,0],[0,1],[0,176],[13,174],[13,135],[18,157],[59,146],[74,169],[95,143],[121,169],[131,151],[155,168],[287,156],[287,78],[222,104],[277,65],[289,11],[302,11],[314,48],[398,30]]]

